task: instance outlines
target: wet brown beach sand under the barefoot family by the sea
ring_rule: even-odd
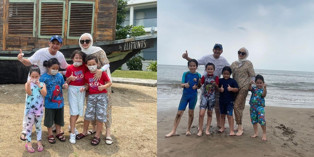
[[[162,102],[162,103],[160,103]],[[223,133],[217,133],[216,116],[213,113],[213,120],[210,127],[210,136],[198,137],[198,104],[194,110],[194,120],[191,128],[191,136],[186,136],[188,114],[187,110],[181,118],[177,128],[177,135],[165,138],[165,135],[172,130],[173,122],[177,113],[177,100],[168,102],[157,100],[158,106],[172,106],[170,109],[157,110],[157,156],[314,156],[314,109],[313,108],[286,108],[286,107],[265,107],[266,135],[267,141],[262,141],[263,131],[258,124],[256,138],[251,124],[249,108],[245,106],[243,112],[242,136],[229,136],[229,125],[226,119],[227,129]],[[204,128],[206,128],[204,118]],[[236,122],[235,122],[236,127]],[[236,133],[236,132],[235,132]]]

